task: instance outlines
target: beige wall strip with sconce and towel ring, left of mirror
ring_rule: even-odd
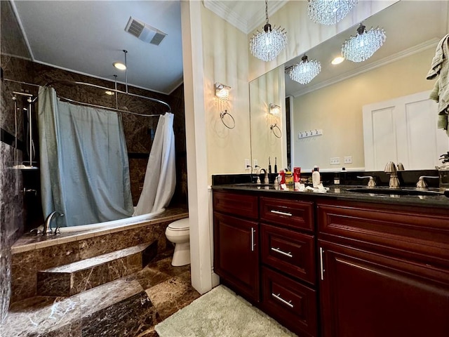
[[[203,29],[204,106],[209,183],[217,173],[244,173],[250,159],[248,41],[246,34],[201,6]],[[215,82],[231,86],[229,100],[215,98]],[[227,128],[220,111],[227,110],[235,127]],[[227,123],[231,123],[226,119]]]

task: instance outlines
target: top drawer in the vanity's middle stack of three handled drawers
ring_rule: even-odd
[[[314,230],[313,203],[260,197],[260,220],[304,230]]]

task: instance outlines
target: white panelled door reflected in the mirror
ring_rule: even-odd
[[[436,127],[437,103],[430,91],[363,106],[366,171],[383,171],[388,161],[406,170],[434,169],[448,152],[449,138]]]

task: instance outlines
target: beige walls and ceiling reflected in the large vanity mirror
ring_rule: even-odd
[[[447,1],[399,1],[363,21],[367,30],[381,27],[387,34],[384,45],[365,62],[346,60],[340,65],[330,64],[335,56],[340,55],[344,41],[356,35],[357,25],[306,53],[309,60],[319,60],[322,68],[309,84],[292,81],[284,72],[284,69],[300,62],[302,55],[286,62],[281,67],[283,69],[276,68],[252,81],[250,118],[253,159],[259,162],[264,159],[260,166],[265,167],[268,159],[265,157],[269,155],[265,150],[272,141],[271,138],[262,139],[262,136],[270,135],[265,135],[267,126],[260,122],[267,118],[267,110],[260,106],[261,92],[266,90],[266,96],[274,97],[285,88],[285,97],[290,102],[290,167],[300,166],[302,171],[309,171],[318,165],[321,171],[340,171],[342,167],[363,171],[366,166],[363,106],[430,91],[434,87],[435,81],[427,80],[426,75],[438,41],[447,34],[447,15]],[[284,83],[278,89],[273,78],[280,71],[283,72]],[[282,98],[284,112],[285,97]],[[276,149],[281,149],[282,154],[278,156],[283,158],[283,162],[281,166],[278,162],[278,169],[287,166],[286,116],[281,120],[284,122],[283,136]],[[310,131],[322,134],[309,136]],[[301,138],[301,133],[303,136],[307,133],[307,137]],[[444,131],[438,130],[438,133]],[[338,159],[339,164],[330,164],[330,159]]]

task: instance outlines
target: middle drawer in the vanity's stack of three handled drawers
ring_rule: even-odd
[[[262,263],[315,284],[314,236],[260,225]]]

